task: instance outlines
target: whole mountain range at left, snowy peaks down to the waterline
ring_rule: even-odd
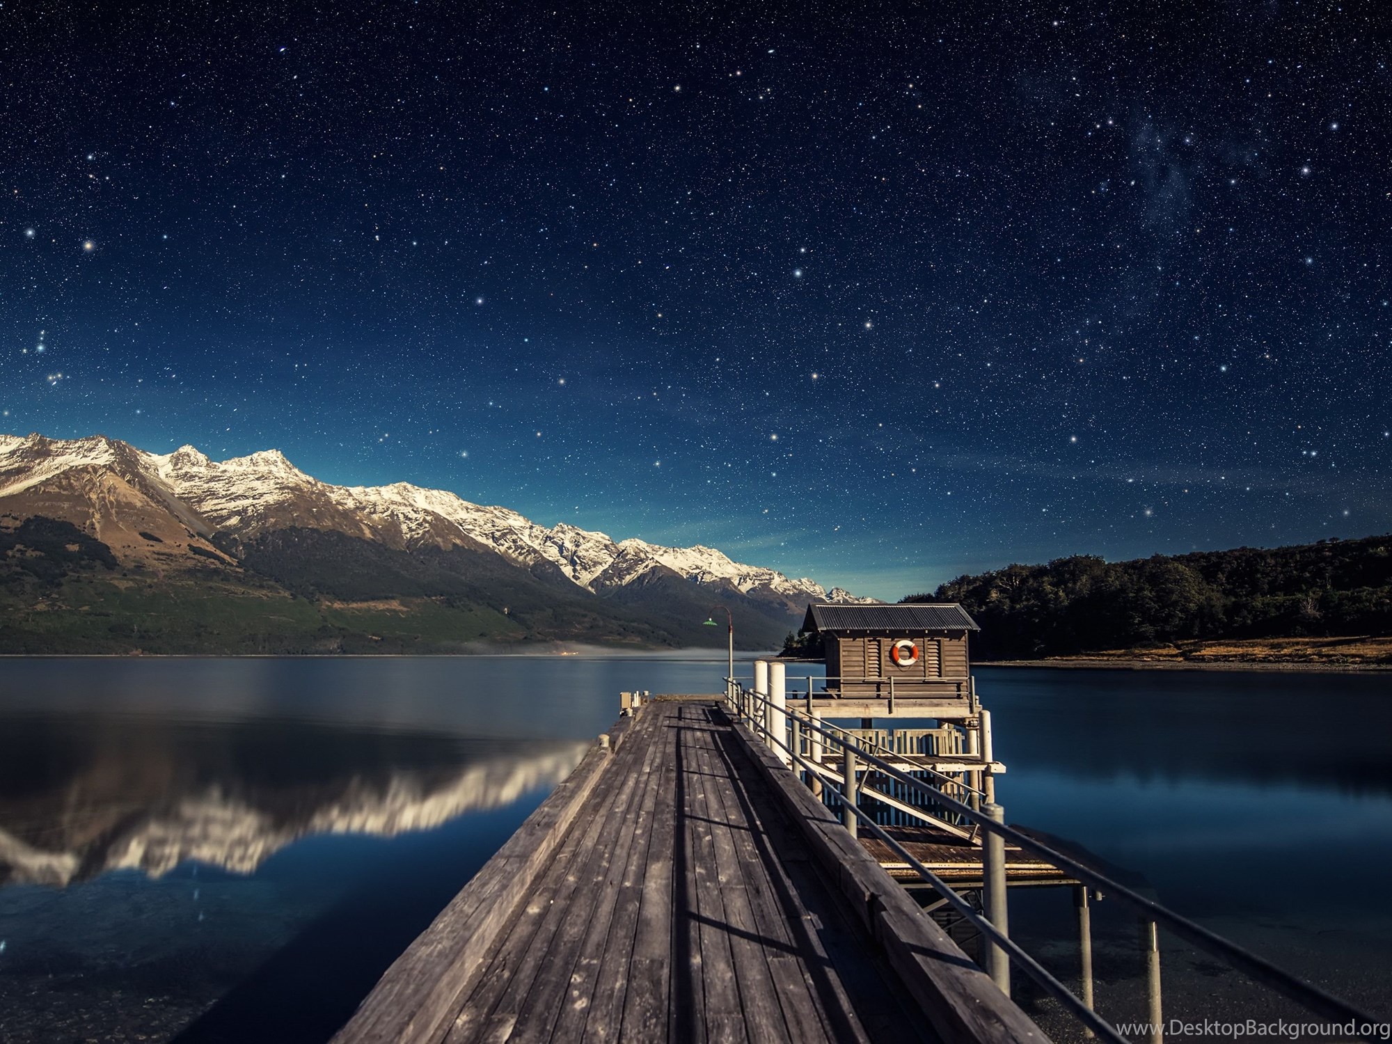
[[[213,461],[0,436],[0,651],[768,647],[841,589],[711,547],[614,540],[408,483],[333,486],[277,450]]]

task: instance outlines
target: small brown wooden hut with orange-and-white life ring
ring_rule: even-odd
[[[827,690],[841,697],[967,699],[967,632],[956,603],[807,606],[805,632],[823,638]]]

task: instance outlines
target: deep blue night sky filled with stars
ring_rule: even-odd
[[[1377,6],[116,7],[0,6],[0,430],[881,597],[1392,529]]]

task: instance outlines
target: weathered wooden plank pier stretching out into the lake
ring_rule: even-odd
[[[334,1037],[505,1040],[1045,1037],[717,697],[683,697],[603,736]]]

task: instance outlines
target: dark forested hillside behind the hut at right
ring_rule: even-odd
[[[959,576],[903,601],[959,601],[979,658],[1186,639],[1392,633],[1392,535],[1105,562],[1093,555]]]

